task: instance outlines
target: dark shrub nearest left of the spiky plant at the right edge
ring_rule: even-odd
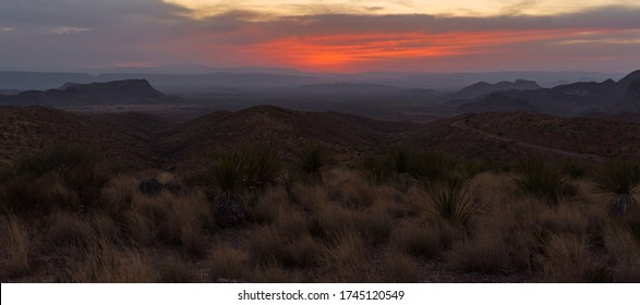
[[[551,207],[560,199],[576,195],[576,187],[557,168],[546,166],[541,160],[524,160],[511,180],[517,191],[534,196]]]

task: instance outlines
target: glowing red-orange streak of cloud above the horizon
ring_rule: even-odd
[[[499,46],[571,37],[572,30],[354,34],[287,37],[252,46],[249,56],[312,71],[349,71],[363,62],[459,57],[499,51]]]

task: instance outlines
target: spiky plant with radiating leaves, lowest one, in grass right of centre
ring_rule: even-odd
[[[425,184],[426,200],[432,212],[454,224],[468,227],[479,211],[467,182],[458,178]]]

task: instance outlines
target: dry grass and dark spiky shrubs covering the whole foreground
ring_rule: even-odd
[[[0,279],[640,281],[638,163],[330,157],[230,147],[182,174],[75,149],[2,164]]]

